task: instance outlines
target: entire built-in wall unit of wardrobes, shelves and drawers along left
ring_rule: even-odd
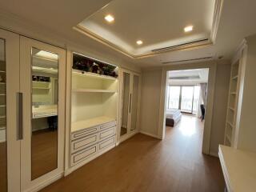
[[[138,133],[140,74],[0,30],[0,191],[38,191]]]

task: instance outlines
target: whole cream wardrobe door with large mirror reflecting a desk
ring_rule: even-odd
[[[64,170],[66,51],[21,38],[22,191],[38,190]]]

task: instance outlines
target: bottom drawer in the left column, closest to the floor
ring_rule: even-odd
[[[77,153],[71,155],[71,166],[86,160],[86,158],[94,156],[94,154],[97,154],[97,152],[97,145],[89,146],[84,150],[79,150]]]

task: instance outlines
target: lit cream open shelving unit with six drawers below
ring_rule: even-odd
[[[118,78],[72,69],[70,92],[70,166],[76,169],[116,145]]]

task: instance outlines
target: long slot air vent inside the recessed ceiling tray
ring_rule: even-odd
[[[152,52],[162,52],[162,51],[167,51],[167,50],[179,50],[179,49],[185,49],[185,48],[189,48],[192,46],[201,46],[205,43],[210,42],[208,38],[204,38],[204,39],[200,39],[194,42],[186,42],[186,43],[182,43],[179,44],[177,46],[166,46],[164,48],[161,49],[157,49],[157,50],[151,50]]]

